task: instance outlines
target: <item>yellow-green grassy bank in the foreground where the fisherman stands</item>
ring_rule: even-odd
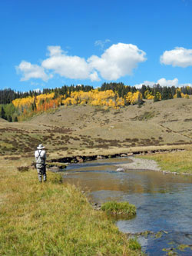
[[[51,172],[38,184],[35,169],[17,170],[20,160],[0,162],[1,255],[141,254],[78,188]]]

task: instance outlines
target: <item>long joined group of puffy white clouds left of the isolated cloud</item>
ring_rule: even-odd
[[[101,57],[92,55],[88,60],[78,56],[68,55],[61,46],[48,46],[48,58],[39,65],[21,62],[17,70],[22,72],[22,81],[30,78],[41,78],[48,81],[53,74],[71,79],[90,79],[100,81],[100,77],[107,80],[117,80],[125,75],[131,75],[138,63],[145,62],[146,53],[136,45],[118,43],[111,45]],[[52,75],[47,75],[51,72]],[[99,77],[100,76],[100,77]]]

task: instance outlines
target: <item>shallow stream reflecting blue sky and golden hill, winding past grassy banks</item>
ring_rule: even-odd
[[[64,182],[88,191],[91,201],[100,205],[111,200],[135,204],[136,217],[116,224],[137,236],[147,255],[192,255],[192,175],[116,171],[117,165],[130,161],[111,158],[68,165]]]

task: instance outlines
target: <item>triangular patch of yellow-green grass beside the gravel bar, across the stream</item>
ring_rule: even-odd
[[[177,172],[177,174],[192,175],[192,151],[177,151],[164,154],[144,155],[140,158],[147,158],[157,161],[162,171]]]

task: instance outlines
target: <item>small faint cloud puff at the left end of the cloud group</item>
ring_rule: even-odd
[[[16,66],[18,73],[22,73],[21,81],[27,81],[30,78],[41,78],[43,81],[48,81],[51,75],[45,73],[45,69],[38,65],[32,65],[30,62],[22,61]]]

